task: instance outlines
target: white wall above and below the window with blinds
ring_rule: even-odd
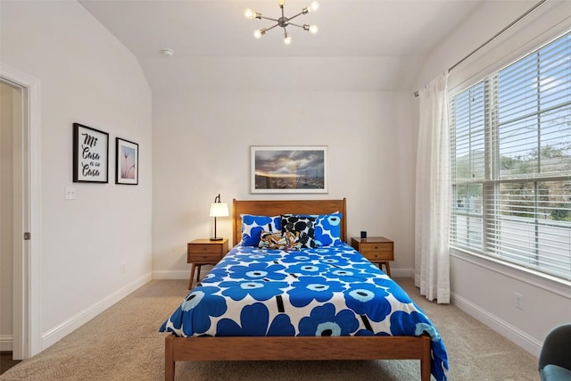
[[[418,87],[483,44],[534,3],[503,2],[490,12],[484,4],[431,54],[418,75]],[[571,28],[568,2],[549,2],[509,32],[451,71],[452,92],[499,70],[519,56]],[[474,31],[478,30],[477,33]],[[418,118],[418,117],[417,117]],[[451,257],[452,301],[502,335],[539,354],[552,327],[571,319],[571,284],[530,271],[502,265],[468,253]],[[515,294],[524,295],[524,310],[515,307]]]

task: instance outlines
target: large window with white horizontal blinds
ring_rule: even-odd
[[[571,280],[571,32],[450,105],[451,245]]]

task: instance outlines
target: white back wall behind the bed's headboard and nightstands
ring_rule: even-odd
[[[367,230],[393,239],[393,273],[410,277],[413,99],[410,92],[155,94],[153,277],[188,277],[186,243],[212,235],[208,212],[218,194],[228,203],[347,197],[349,236]],[[327,145],[329,193],[250,194],[251,145]],[[219,236],[231,237],[231,219],[218,221]]]

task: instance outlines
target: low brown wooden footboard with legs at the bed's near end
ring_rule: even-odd
[[[165,338],[164,377],[174,381],[176,361],[202,360],[420,360],[430,380],[430,337],[176,337]],[[256,351],[252,351],[256,348]]]

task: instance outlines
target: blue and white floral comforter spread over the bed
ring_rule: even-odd
[[[178,336],[422,335],[446,380],[443,340],[390,277],[348,244],[285,252],[235,246],[161,326]]]

